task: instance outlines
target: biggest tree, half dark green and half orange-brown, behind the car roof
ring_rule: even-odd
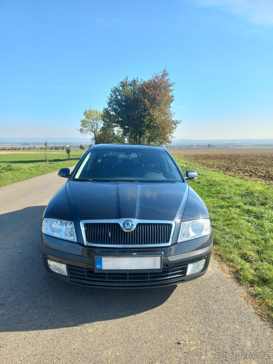
[[[174,83],[166,68],[147,81],[128,77],[111,88],[104,115],[120,127],[124,137],[133,143],[171,142],[180,120],[174,120],[171,103]]]

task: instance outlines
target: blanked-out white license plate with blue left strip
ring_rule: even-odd
[[[162,256],[95,257],[95,270],[161,271]]]

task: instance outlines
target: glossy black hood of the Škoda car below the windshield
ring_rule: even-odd
[[[75,222],[135,218],[180,223],[187,183],[78,182],[66,183]]]

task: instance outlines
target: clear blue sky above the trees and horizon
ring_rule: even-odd
[[[9,0],[0,32],[0,137],[79,137],[112,86],[166,67],[176,138],[273,138],[272,0]]]

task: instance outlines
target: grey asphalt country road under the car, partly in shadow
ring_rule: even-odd
[[[214,260],[205,276],[161,289],[48,276],[41,215],[64,182],[54,172],[0,188],[1,363],[272,363],[272,330]]]

